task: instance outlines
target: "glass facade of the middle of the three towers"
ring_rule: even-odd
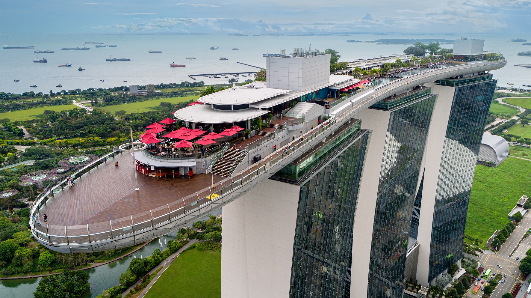
[[[367,297],[402,297],[409,228],[435,95],[391,110],[369,263]]]

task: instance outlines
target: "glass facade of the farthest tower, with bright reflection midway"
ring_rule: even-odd
[[[435,194],[429,280],[463,256],[470,190],[496,82],[456,87]]]

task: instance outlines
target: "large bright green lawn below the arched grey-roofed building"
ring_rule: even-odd
[[[512,148],[512,146],[511,146]],[[522,195],[531,195],[531,161],[508,157],[498,167],[477,165],[465,234],[483,244],[509,222],[507,215]]]

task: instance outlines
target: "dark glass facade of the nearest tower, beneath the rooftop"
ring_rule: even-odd
[[[301,184],[292,298],[350,297],[354,215],[368,138],[365,131]]]

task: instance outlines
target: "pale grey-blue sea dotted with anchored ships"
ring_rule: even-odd
[[[349,36],[227,36],[227,35],[48,35],[48,36],[0,36],[0,44],[10,46],[35,46],[35,49],[0,49],[0,92],[22,93],[25,91],[109,88],[132,84],[158,84],[193,81],[189,74],[255,72],[258,68],[246,66],[242,62],[265,67],[262,54],[279,54],[280,49],[292,53],[294,47],[303,49],[335,49],[341,55],[340,61],[354,61],[357,58],[378,57],[400,54],[409,45],[377,45],[371,42],[346,42],[347,39],[371,41],[383,38],[410,39],[456,39],[459,36],[447,35],[349,35]],[[469,36],[470,38],[470,36]],[[517,56],[518,52],[531,50],[522,42],[511,42],[504,35],[481,35],[472,38],[485,39],[485,50],[501,52],[508,61],[506,67],[494,71],[499,86],[507,82],[514,87],[531,84],[531,69],[513,66],[531,63],[531,57]],[[89,50],[61,50],[64,47],[84,47],[85,41],[115,44],[117,47]],[[211,50],[210,47],[219,46]],[[441,47],[451,48],[452,44]],[[233,50],[232,48],[238,48]],[[50,54],[33,54],[34,50],[55,50]],[[148,53],[148,50],[161,50],[162,53]],[[33,63],[33,59],[45,58],[48,63]],[[127,62],[106,62],[109,56],[131,58]],[[196,59],[186,59],[186,57]],[[220,57],[228,58],[221,61]],[[65,63],[71,67],[58,67]],[[184,64],[186,67],[170,67],[169,64]],[[78,71],[82,67],[84,71]],[[228,82],[221,77],[195,77],[206,84]],[[232,78],[232,76],[229,76]],[[20,82],[14,82],[18,79]],[[239,81],[245,81],[240,76]],[[104,80],[101,82],[100,80]],[[124,82],[127,81],[127,82]],[[30,85],[37,85],[31,88]],[[55,87],[62,84],[63,87]]]

